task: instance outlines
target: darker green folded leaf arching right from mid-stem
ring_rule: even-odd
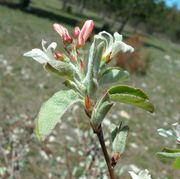
[[[154,106],[148,96],[140,89],[130,86],[114,86],[108,90],[111,100],[130,104],[154,112]]]

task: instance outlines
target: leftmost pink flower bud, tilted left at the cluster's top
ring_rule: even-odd
[[[68,30],[60,25],[60,24],[53,24],[53,28],[54,30],[60,35],[60,37],[62,38],[62,41],[65,43],[65,42],[72,42],[72,38],[71,36],[69,35],[69,32]]]

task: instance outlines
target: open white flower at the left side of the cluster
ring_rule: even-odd
[[[56,49],[57,44],[55,42],[52,42],[47,49],[45,48],[46,41],[42,40],[42,49],[32,49],[29,52],[24,53],[24,56],[26,57],[32,57],[37,62],[43,64],[47,63],[50,60],[55,60],[53,51]]]

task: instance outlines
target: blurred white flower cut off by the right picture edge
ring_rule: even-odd
[[[166,130],[166,129],[160,128],[157,131],[159,135],[163,137],[172,137],[176,140],[177,144],[180,144],[180,124],[176,122],[172,124],[172,126],[173,126],[173,130],[171,129]]]

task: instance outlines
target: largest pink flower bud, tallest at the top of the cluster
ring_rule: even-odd
[[[83,46],[85,45],[85,41],[87,40],[87,38],[90,36],[92,30],[94,28],[94,22],[93,20],[87,20],[80,33],[79,33],[79,36],[78,36],[78,46]]]

